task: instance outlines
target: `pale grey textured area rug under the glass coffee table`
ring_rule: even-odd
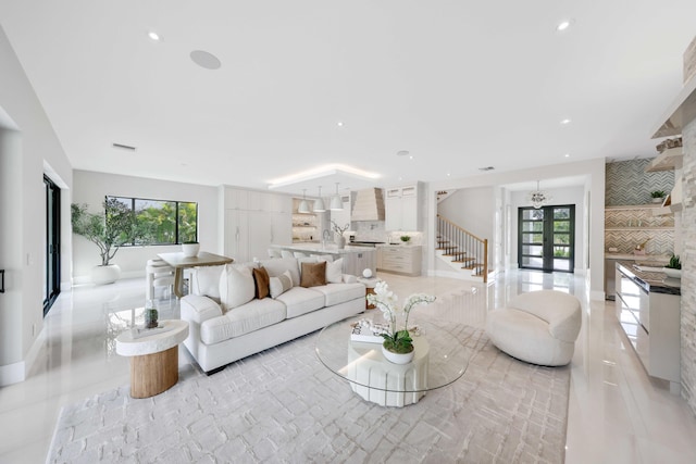
[[[469,367],[417,404],[362,400],[316,360],[314,333],[212,376],[190,367],[149,399],[124,386],[65,406],[47,462],[562,463],[569,367],[448,329],[471,350]]]

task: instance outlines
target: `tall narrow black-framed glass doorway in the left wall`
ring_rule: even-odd
[[[44,176],[46,227],[44,237],[44,316],[61,292],[61,189]]]

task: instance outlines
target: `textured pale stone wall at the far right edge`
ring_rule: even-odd
[[[696,120],[682,128],[682,396],[696,414]]]

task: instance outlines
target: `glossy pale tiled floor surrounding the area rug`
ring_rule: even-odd
[[[685,401],[649,379],[613,317],[613,303],[587,300],[584,279],[568,274],[509,272],[493,285],[434,277],[380,277],[402,300],[415,291],[438,297],[418,308],[481,326],[490,309],[519,292],[556,288],[576,294],[583,329],[572,361],[567,463],[694,463],[696,417]],[[128,360],[115,336],[142,305],[141,279],[64,292],[46,318],[46,347],[30,377],[0,389],[0,463],[42,463],[60,409],[128,384]],[[176,300],[160,300],[161,318],[178,315]],[[189,362],[182,349],[179,363]]]

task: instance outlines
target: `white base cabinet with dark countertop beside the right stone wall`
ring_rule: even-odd
[[[616,268],[616,312],[648,375],[670,381],[679,392],[680,308],[679,287],[661,284],[663,274],[641,273],[629,264]]]

